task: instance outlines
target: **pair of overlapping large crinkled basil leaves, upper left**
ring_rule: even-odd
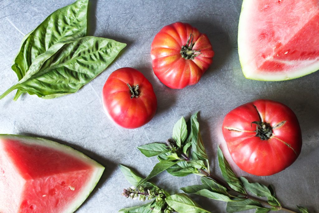
[[[27,34],[14,59],[18,83],[0,99],[18,89],[42,98],[74,93],[91,81],[126,46],[106,38],[86,36],[88,0],[78,0],[49,15]]]

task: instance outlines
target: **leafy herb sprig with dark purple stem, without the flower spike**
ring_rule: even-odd
[[[145,179],[138,180],[137,187],[164,170],[173,176],[196,174],[201,176],[202,184],[181,188],[184,193],[225,201],[226,211],[229,213],[249,209],[256,209],[256,213],[278,210],[310,213],[307,208],[301,206],[297,206],[299,211],[283,207],[271,185],[250,183],[244,177],[237,177],[219,147],[217,156],[223,179],[212,174],[200,134],[197,113],[192,115],[188,122],[183,117],[178,120],[173,128],[172,139],[167,140],[166,144],[151,143],[137,148],[146,157],[157,156],[159,159],[159,163],[154,166],[150,174]]]

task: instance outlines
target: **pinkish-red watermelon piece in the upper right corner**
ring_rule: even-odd
[[[238,52],[246,78],[289,80],[319,69],[318,0],[244,0]]]

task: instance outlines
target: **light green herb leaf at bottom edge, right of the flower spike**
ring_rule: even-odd
[[[179,213],[210,213],[184,193],[171,195],[165,198],[165,201]]]

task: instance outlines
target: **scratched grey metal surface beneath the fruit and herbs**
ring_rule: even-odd
[[[51,12],[73,0],[2,0],[0,1],[0,92],[17,82],[11,62],[22,37]],[[128,45],[122,56],[76,94],[53,100],[24,95],[12,101],[14,93],[0,101],[0,133],[40,136],[68,144],[97,160],[106,170],[77,212],[117,212],[140,204],[120,194],[130,184],[117,164],[138,168],[147,175],[157,163],[146,158],[136,146],[165,141],[174,122],[200,111],[204,144],[209,150],[212,170],[216,149],[222,144],[238,175],[264,184],[272,183],[282,203],[319,209],[319,72],[285,82],[262,82],[244,78],[237,54],[237,29],[241,1],[91,1],[89,34],[112,38]],[[198,84],[173,90],[159,82],[152,72],[150,45],[161,27],[189,22],[208,35],[215,50],[214,62]],[[151,122],[133,130],[116,127],[104,114],[101,90],[109,74],[121,67],[134,67],[151,81],[158,98],[158,110]],[[236,106],[259,98],[285,103],[296,113],[303,135],[303,147],[297,161],[278,174],[256,177],[240,171],[229,158],[221,135],[226,113]],[[158,186],[177,192],[182,186],[199,184],[199,177],[183,178],[166,172],[154,179]],[[194,197],[212,212],[226,212],[224,202]],[[253,212],[253,211],[247,211]]]

